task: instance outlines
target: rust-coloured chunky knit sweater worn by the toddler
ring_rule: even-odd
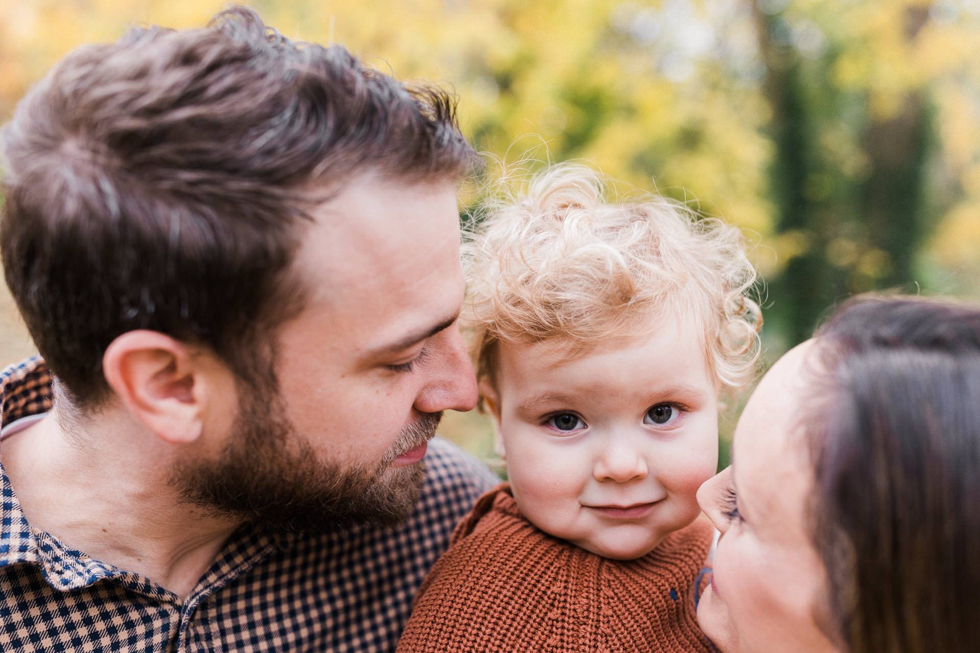
[[[398,653],[710,653],[694,615],[710,548],[698,521],[642,558],[609,560],[534,527],[505,483],[456,528]]]

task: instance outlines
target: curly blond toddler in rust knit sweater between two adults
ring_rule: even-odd
[[[463,318],[508,483],[423,583],[400,653],[711,651],[695,621],[719,393],[754,373],[738,231],[562,166],[466,246]]]

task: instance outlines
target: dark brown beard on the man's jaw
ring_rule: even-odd
[[[275,389],[239,390],[239,413],[219,458],[174,471],[172,483],[185,501],[214,515],[315,532],[394,526],[411,515],[424,468],[391,465],[431,439],[441,413],[422,413],[403,427],[373,468],[351,468],[320,460],[286,418]]]

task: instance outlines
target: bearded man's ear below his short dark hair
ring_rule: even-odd
[[[102,357],[109,386],[129,412],[171,444],[196,441],[204,427],[208,382],[200,354],[157,331],[127,331]]]

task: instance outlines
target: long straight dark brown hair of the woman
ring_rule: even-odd
[[[806,423],[830,634],[965,653],[980,625],[980,310],[858,298],[817,335]]]

